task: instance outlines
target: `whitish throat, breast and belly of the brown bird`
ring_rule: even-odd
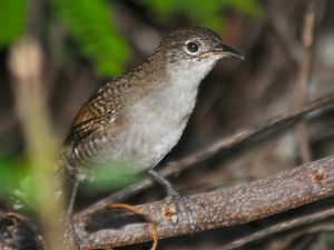
[[[134,171],[154,168],[178,142],[197,96],[198,84],[214,62],[168,72],[164,88],[156,89],[127,107],[127,129],[117,136],[117,148],[107,153],[110,161],[127,162]]]

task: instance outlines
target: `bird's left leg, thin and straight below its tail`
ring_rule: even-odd
[[[66,227],[66,238],[69,239],[69,243],[72,244],[72,247],[76,250],[80,250],[80,244],[79,244],[79,239],[77,236],[77,232],[73,228],[72,223],[72,214],[73,214],[73,207],[75,207],[75,201],[79,188],[79,178],[75,178],[73,184],[70,188],[70,197],[69,197],[69,203],[67,206],[66,210],[66,218],[65,218],[65,227]]]

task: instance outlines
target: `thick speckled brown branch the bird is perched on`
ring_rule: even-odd
[[[187,213],[170,201],[136,206],[156,222],[159,239],[229,227],[258,220],[334,194],[334,156],[305,163],[263,180],[193,196],[189,208],[194,228]],[[151,240],[149,226],[134,221],[134,214],[100,211],[73,219],[82,249],[104,249]]]

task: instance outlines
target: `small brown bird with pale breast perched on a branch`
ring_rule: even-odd
[[[207,28],[180,28],[163,38],[139,67],[101,86],[79,109],[61,151],[66,179],[80,183],[92,168],[120,166],[146,171],[179,200],[155,167],[179,141],[202,80],[224,57],[244,60]]]

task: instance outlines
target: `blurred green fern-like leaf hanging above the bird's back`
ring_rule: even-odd
[[[53,0],[60,18],[82,54],[101,74],[120,73],[130,56],[129,46],[112,26],[112,9],[105,0]]]

